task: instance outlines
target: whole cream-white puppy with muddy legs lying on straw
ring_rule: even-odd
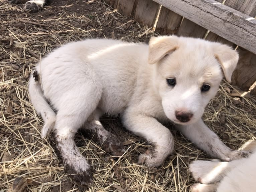
[[[166,121],[209,155],[224,161],[240,158],[244,153],[225,146],[201,119],[223,73],[230,81],[237,62],[238,54],[229,46],[202,39],[152,37],[149,45],[90,39],[64,45],[42,59],[29,93],[45,122],[42,137],[54,129],[66,170],[83,173],[84,179],[73,179],[89,185],[90,165],[73,140],[78,129],[96,135],[110,152],[123,151],[99,122],[103,114],[121,114],[128,130],[154,145],[138,160],[150,167],[160,166],[173,151],[172,134],[160,123]]]

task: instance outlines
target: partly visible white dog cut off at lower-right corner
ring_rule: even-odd
[[[196,183],[192,192],[254,192],[256,178],[256,142],[246,144],[253,151],[248,158],[231,162],[194,161],[189,169]]]

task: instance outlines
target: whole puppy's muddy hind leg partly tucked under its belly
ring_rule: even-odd
[[[108,132],[99,121],[101,116],[99,110],[88,119],[83,126],[83,130],[88,138],[102,146],[103,150],[113,156],[121,156],[125,152],[124,146],[120,143],[120,138]]]

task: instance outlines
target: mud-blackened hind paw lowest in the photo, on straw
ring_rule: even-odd
[[[65,171],[71,178],[72,182],[81,187],[89,188],[93,183],[93,174],[90,169],[87,171],[77,172],[71,166],[65,166]]]

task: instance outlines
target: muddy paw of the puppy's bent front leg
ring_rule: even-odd
[[[164,159],[154,152],[154,150],[147,150],[144,154],[140,154],[138,164],[147,165],[149,167],[159,167],[163,164]]]

